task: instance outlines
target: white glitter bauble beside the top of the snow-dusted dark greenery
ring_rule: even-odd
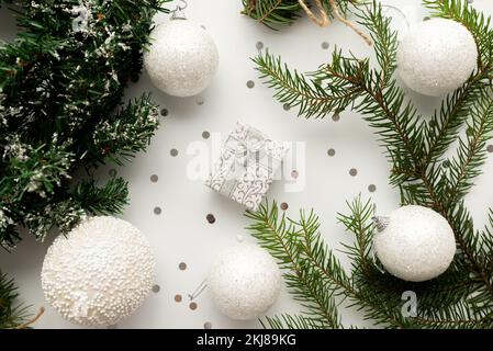
[[[219,65],[212,36],[190,20],[169,20],[152,33],[144,64],[153,83],[173,97],[192,97],[211,83]]]

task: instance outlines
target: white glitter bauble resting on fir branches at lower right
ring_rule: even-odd
[[[391,274],[408,282],[423,282],[449,268],[456,239],[448,222],[437,212],[404,206],[393,211],[385,225],[376,236],[374,250]]]

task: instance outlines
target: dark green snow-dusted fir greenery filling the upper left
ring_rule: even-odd
[[[15,12],[22,30],[0,44],[2,246],[20,240],[19,225],[43,239],[86,213],[121,212],[124,182],[101,192],[86,184],[101,163],[123,165],[145,150],[158,127],[148,94],[123,107],[122,99],[141,73],[153,18],[166,2],[89,1],[80,31],[72,27],[77,0],[29,1]],[[90,176],[81,186],[71,178],[79,169]]]

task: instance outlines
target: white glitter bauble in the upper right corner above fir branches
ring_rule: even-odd
[[[440,97],[460,88],[478,61],[471,32],[446,19],[432,19],[412,27],[399,45],[397,67],[412,90]]]

